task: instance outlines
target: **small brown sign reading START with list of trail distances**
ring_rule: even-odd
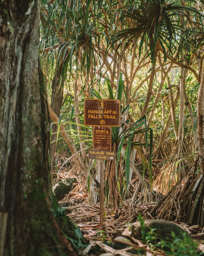
[[[111,151],[111,127],[94,126],[93,148]]]

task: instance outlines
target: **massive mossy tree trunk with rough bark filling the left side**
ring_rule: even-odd
[[[1,1],[0,230],[5,235],[0,245],[3,255],[74,255],[66,238],[78,241],[77,232],[58,212],[51,192],[48,105],[38,43],[38,1]]]

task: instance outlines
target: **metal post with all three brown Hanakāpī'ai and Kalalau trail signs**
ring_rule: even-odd
[[[100,171],[100,227],[103,225],[104,212],[104,173],[103,161],[116,160],[116,152],[111,151],[111,126],[120,126],[120,101],[118,99],[85,99],[84,125],[94,126],[93,150],[90,159],[99,159]]]

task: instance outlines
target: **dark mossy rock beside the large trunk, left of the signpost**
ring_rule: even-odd
[[[65,195],[72,189],[73,183],[77,183],[75,178],[64,178],[59,183],[55,184],[52,188],[52,191],[57,198],[57,200],[61,200],[64,198]]]

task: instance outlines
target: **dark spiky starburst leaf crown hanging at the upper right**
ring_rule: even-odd
[[[194,3],[194,1],[189,1]],[[139,56],[145,45],[152,62],[155,62],[156,44],[160,44],[165,54],[172,54],[179,45],[186,29],[187,13],[200,15],[196,8],[182,6],[180,1],[150,0],[128,1],[120,8],[119,21],[131,18],[133,28],[126,28],[113,35],[112,41],[125,40],[126,45],[134,38],[139,41]]]

